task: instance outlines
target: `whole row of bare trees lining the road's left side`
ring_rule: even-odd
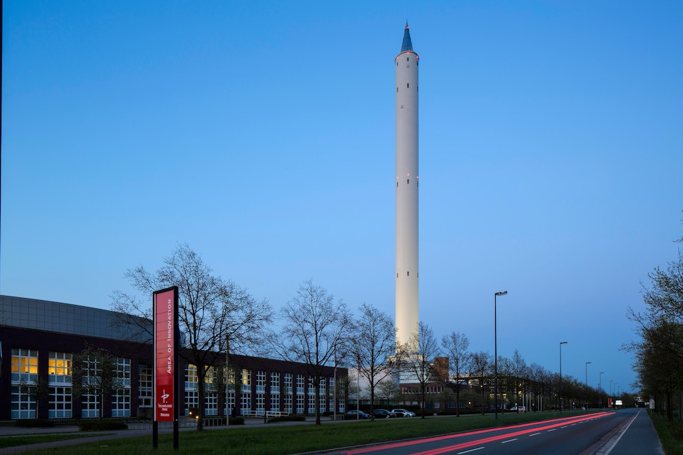
[[[405,346],[396,346],[395,325],[386,313],[363,304],[358,317],[353,317],[343,301],[335,300],[312,280],[304,282],[277,313],[280,330],[273,330],[276,318],[268,301],[254,299],[244,288],[213,275],[187,244],[178,245],[156,272],[138,266],[129,269],[125,277],[146,296],[178,286],[180,355],[198,366],[199,403],[204,403],[207,374],[211,374],[209,368],[199,366],[220,364],[231,352],[269,357],[275,353],[281,359],[302,363],[315,388],[316,423],[320,423],[320,379],[323,369],[332,363],[358,368],[368,384],[373,408],[378,384],[389,379],[396,382],[399,374],[403,382],[419,385],[421,403],[426,401],[429,383],[450,383],[451,378],[459,383],[465,373],[480,378],[481,401],[485,401],[484,382],[492,376],[492,359],[487,352],[469,352],[465,335],[454,332],[439,345],[431,328],[420,323]],[[122,292],[114,293],[113,299],[112,310],[123,315],[122,324],[138,328],[138,337],[151,341],[149,300],[138,301]],[[449,357],[450,371],[434,363],[441,356]],[[540,366],[527,367],[518,352],[510,361],[501,358],[498,363],[501,376],[521,380],[512,390],[515,396],[521,396],[522,388],[531,388],[531,384],[539,388],[536,393],[540,396],[553,396],[553,374]],[[565,381],[569,379],[563,378]],[[455,390],[460,402],[459,387]],[[571,390],[571,381],[566,390]],[[199,412],[198,430],[202,430],[202,406]]]

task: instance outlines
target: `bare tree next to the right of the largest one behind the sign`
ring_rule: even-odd
[[[345,350],[350,314],[343,301],[335,303],[333,295],[308,279],[280,315],[284,326],[280,334],[271,334],[271,345],[283,359],[304,363],[315,388],[315,424],[320,425],[320,380],[337,349]]]

